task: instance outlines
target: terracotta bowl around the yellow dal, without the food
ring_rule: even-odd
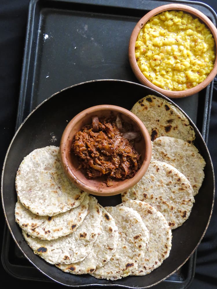
[[[128,50],[128,55],[129,55],[129,61],[130,61],[130,66],[137,77],[137,79],[140,81],[141,84],[144,84],[152,89],[157,90],[158,92],[162,93],[163,95],[169,97],[169,98],[181,98],[181,97],[187,97],[190,95],[193,95],[203,88],[205,88],[216,76],[217,74],[217,57],[215,59],[214,67],[212,71],[209,73],[209,75],[206,77],[206,79],[201,82],[200,84],[194,86],[193,88],[189,88],[186,90],[182,91],[172,91],[172,90],[166,90],[159,88],[158,86],[154,85],[151,81],[149,81],[141,72],[139,69],[139,66],[137,65],[136,57],[135,57],[135,42],[137,40],[137,36],[139,34],[139,31],[141,28],[145,25],[145,23],[152,18],[153,16],[166,11],[166,10],[182,10],[183,12],[191,14],[193,17],[197,17],[200,22],[204,23],[212,32],[215,40],[215,46],[217,47],[217,29],[215,25],[209,20],[207,16],[205,16],[202,12],[199,10],[188,6],[188,5],[183,5],[183,4],[178,4],[178,3],[172,3],[172,4],[167,4],[167,5],[162,5],[159,6],[150,12],[148,12],[146,15],[144,15],[139,22],[136,24],[135,28],[133,29],[133,32],[130,37],[130,42],[129,42],[129,50]]]

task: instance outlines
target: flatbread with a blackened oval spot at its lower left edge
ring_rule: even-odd
[[[70,264],[82,261],[91,251],[101,230],[102,209],[93,196],[89,196],[89,209],[83,223],[73,233],[55,240],[42,240],[23,236],[35,254],[50,264]]]

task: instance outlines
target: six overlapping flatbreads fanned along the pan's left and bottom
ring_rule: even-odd
[[[121,279],[160,266],[172,246],[163,214],[143,201],[103,208],[64,174],[59,148],[35,149],[16,174],[15,220],[35,254],[64,272]]]

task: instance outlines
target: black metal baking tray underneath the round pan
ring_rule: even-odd
[[[73,84],[93,79],[138,82],[128,61],[130,34],[144,14],[172,2],[191,5],[217,23],[212,8],[194,1],[31,1],[16,129],[38,104]],[[173,99],[206,143],[212,91],[213,82],[196,95]],[[82,96],[75,101],[82,101]],[[12,276],[54,285],[21,254],[6,225],[1,257]],[[196,252],[176,273],[152,288],[187,288],[194,278],[195,260]]]

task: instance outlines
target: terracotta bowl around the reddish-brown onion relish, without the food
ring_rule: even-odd
[[[103,183],[103,177],[89,179],[85,172],[78,169],[78,158],[71,152],[72,141],[75,134],[87,124],[92,123],[92,117],[110,116],[111,112],[116,116],[120,114],[124,122],[131,123],[135,131],[139,131],[141,139],[135,142],[134,147],[141,154],[142,164],[136,174],[130,179],[112,180],[112,186]],[[66,126],[60,141],[60,159],[65,173],[71,181],[81,190],[93,195],[110,196],[127,190],[134,186],[145,174],[151,159],[152,147],[148,131],[141,120],[129,110],[115,105],[97,105],[77,114]]]

